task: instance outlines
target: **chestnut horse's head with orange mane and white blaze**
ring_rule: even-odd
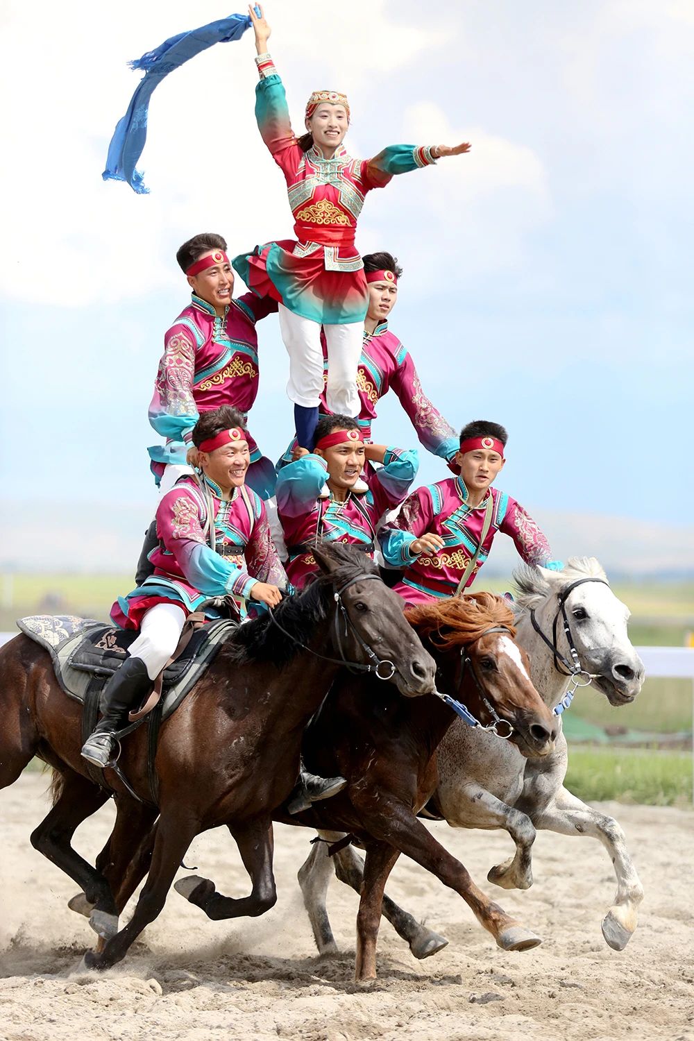
[[[432,649],[440,688],[522,755],[552,751],[559,722],[533,686],[506,601],[470,593],[410,608],[408,618]]]

